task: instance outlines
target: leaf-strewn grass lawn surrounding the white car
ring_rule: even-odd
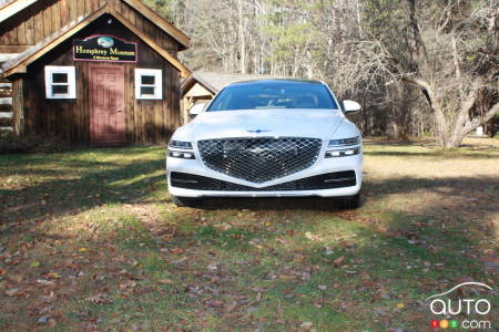
[[[176,208],[164,147],[2,155],[0,329],[435,331],[427,297],[471,280],[497,290],[495,142],[368,142],[357,210]],[[497,293],[476,292],[498,329]]]

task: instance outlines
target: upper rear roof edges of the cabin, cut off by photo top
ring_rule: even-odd
[[[8,18],[30,7],[34,2],[43,0],[10,0],[10,1],[0,0],[0,1],[3,1],[3,4],[2,2],[0,2],[0,23],[1,23]],[[119,0],[119,1],[125,2],[126,4],[135,9],[138,12],[140,12],[150,22],[155,24],[157,28],[160,28],[162,31],[171,35],[173,39],[175,39],[175,41],[179,42],[181,46],[180,51],[189,49],[191,44],[191,39],[186,34],[184,34],[181,30],[176,29],[175,25],[163,19],[154,10],[145,6],[141,0]]]

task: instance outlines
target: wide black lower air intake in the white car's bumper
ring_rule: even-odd
[[[327,173],[301,178],[284,184],[254,188],[234,183],[220,180],[206,176],[172,172],[170,183],[173,187],[195,190],[215,191],[288,191],[288,190],[317,190],[350,187],[357,184],[354,170]]]

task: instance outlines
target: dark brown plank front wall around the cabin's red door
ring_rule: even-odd
[[[139,43],[139,62],[113,63],[125,69],[126,138],[130,143],[165,143],[181,124],[180,73],[121,23],[106,24],[104,15],[78,33],[75,39],[93,34],[113,34]],[[90,142],[89,66],[104,63],[73,61],[72,41],[55,48],[28,66],[24,79],[24,128],[27,134],[57,135],[71,144]],[[77,98],[47,100],[44,65],[77,68]],[[163,70],[163,100],[144,101],[134,96],[134,69]]]

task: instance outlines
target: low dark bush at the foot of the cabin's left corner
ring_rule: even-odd
[[[13,153],[55,153],[68,148],[60,137],[26,135],[17,137],[12,133],[0,136],[0,154]]]

